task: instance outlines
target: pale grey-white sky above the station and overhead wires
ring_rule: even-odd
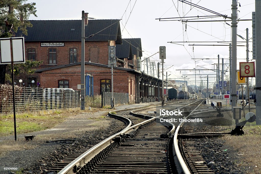
[[[188,0],[201,7],[210,9],[223,15],[231,16],[232,0]],[[30,20],[81,20],[81,11],[89,13],[89,17],[95,19],[122,19],[121,30],[122,38],[141,38],[143,49],[143,58],[149,57],[159,50],[159,46],[166,46],[165,69],[169,68],[168,78],[180,77],[184,74],[194,74],[195,71],[176,71],[177,69],[193,69],[195,61],[192,58],[228,58],[228,46],[188,46],[167,43],[170,41],[195,41],[194,44],[223,44],[223,43],[199,43],[200,41],[231,41],[231,27],[225,22],[187,22],[180,21],[159,21],[156,18],[180,17],[180,16],[206,16],[214,15],[199,8],[193,8],[188,4],[178,0],[29,0],[35,2],[37,16],[31,16]],[[255,10],[254,0],[238,0],[238,18],[252,19],[252,11]],[[222,17],[209,18],[206,20],[223,20]],[[227,19],[229,20],[229,19]],[[196,20],[194,20],[196,21]],[[227,21],[231,25],[231,21]],[[240,21],[237,32],[246,38],[246,28],[249,29],[249,39],[252,38],[252,21]],[[240,37],[238,41],[244,41]],[[183,44],[183,43],[179,43]],[[239,45],[246,45],[241,43]],[[249,50],[252,51],[252,39],[249,40]],[[246,46],[237,47],[238,62],[246,62]],[[252,52],[249,53],[249,59],[252,59]],[[150,58],[150,61],[159,61],[159,55],[156,54]],[[200,60],[195,59],[197,69],[213,69],[217,59]],[[220,59],[221,63],[221,59]],[[224,59],[224,63],[229,63]],[[239,65],[239,63],[238,63]],[[198,67],[200,66],[200,67]],[[204,67],[204,68],[201,68]],[[227,67],[225,66],[225,69]],[[221,69],[221,67],[220,67]],[[146,70],[145,70],[146,72]],[[197,80],[203,74],[216,74],[214,71],[197,71]],[[226,74],[229,75],[229,72]],[[215,75],[209,75],[215,76]],[[195,76],[188,75],[191,80]],[[206,80],[206,79],[202,79]],[[210,84],[215,79],[210,78]],[[194,84],[192,82],[192,84]]]

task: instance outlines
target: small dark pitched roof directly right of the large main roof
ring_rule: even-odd
[[[133,56],[130,42],[122,40],[122,44],[116,44],[115,49],[117,58],[128,58],[132,60]]]

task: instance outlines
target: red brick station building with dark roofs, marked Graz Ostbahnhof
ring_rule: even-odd
[[[81,72],[81,20],[34,20],[25,37],[26,59],[43,61],[35,74],[24,79],[25,86],[40,83],[42,88],[72,88],[77,90]],[[111,68],[108,67],[108,47],[116,46],[117,67],[114,68],[114,92],[128,93],[130,103],[158,100],[146,83],[159,79],[139,71],[142,56],[141,39],[122,39],[119,20],[85,21],[86,94],[111,91]],[[88,78],[87,78],[88,76]],[[20,77],[18,77],[20,78]],[[32,84],[31,81],[35,83]],[[89,80],[89,79],[88,79]],[[86,83],[87,84],[87,83]],[[144,85],[143,85],[144,84]],[[144,87],[143,87],[144,86]],[[152,85],[153,86],[153,85]],[[160,86],[160,85],[158,85]],[[156,87],[156,85],[154,85]],[[87,88],[90,89],[87,92]],[[91,89],[92,88],[92,89]],[[151,87],[150,87],[151,88]],[[154,97],[149,97],[149,92]]]

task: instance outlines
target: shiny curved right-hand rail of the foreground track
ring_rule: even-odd
[[[204,100],[203,100],[204,101]],[[201,103],[203,103],[203,101],[201,102]],[[197,101],[195,101],[195,102],[193,102],[193,103],[196,103],[196,102],[198,102],[198,100]],[[193,103],[191,103],[191,104],[193,104]],[[200,103],[200,104],[201,104]],[[188,104],[188,105],[191,105],[191,104]],[[199,104],[199,105],[200,105]],[[188,106],[188,105],[186,105],[186,106]],[[199,105],[194,109],[194,110],[196,110],[198,107],[199,107]],[[185,107],[185,106],[182,106],[182,107]],[[193,111],[194,111],[193,110]],[[192,111],[192,112],[193,112]],[[192,113],[191,112],[191,113]],[[189,114],[190,115],[190,114]],[[188,115],[188,116],[189,116]],[[187,117],[188,117],[187,116]],[[185,118],[187,118],[187,117],[185,117]],[[176,157],[177,158],[177,160],[178,160],[178,164],[176,164],[176,166],[179,166],[180,167],[180,170],[181,171],[178,171],[179,173],[185,173],[185,174],[190,174],[191,172],[189,171],[189,169],[188,169],[188,166],[186,165],[186,163],[185,163],[185,161],[184,161],[184,159],[182,158],[182,156],[181,156],[181,153],[180,153],[180,150],[179,150],[179,147],[178,147],[178,142],[177,142],[177,136],[178,136],[178,131],[179,131],[179,128],[182,126],[184,124],[184,122],[181,122],[178,126],[177,126],[177,128],[176,128],[176,130],[175,130],[175,134],[174,134],[174,140],[173,140],[173,155],[174,155],[174,157]]]

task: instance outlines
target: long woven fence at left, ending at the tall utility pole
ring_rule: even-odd
[[[0,113],[13,112],[11,85],[0,85]],[[80,91],[70,88],[15,86],[15,111],[39,111],[80,107]]]

